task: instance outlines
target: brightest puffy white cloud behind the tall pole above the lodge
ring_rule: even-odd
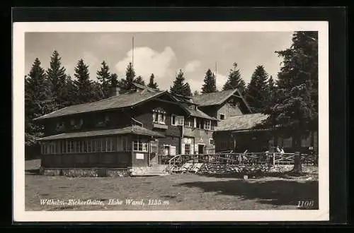
[[[132,50],[125,55],[125,58],[115,64],[120,77],[125,75],[127,65],[132,61]],[[149,80],[152,73],[161,89],[168,89],[175,71],[172,68],[173,61],[176,61],[176,54],[171,47],[165,47],[164,51],[157,52],[149,47],[137,47],[134,49],[134,69],[137,76],[142,76],[145,82]]]

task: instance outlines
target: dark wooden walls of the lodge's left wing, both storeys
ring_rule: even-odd
[[[176,116],[187,119],[188,112],[169,95],[161,95],[135,107],[44,119],[42,124],[45,125],[45,136],[57,135],[59,139],[42,141],[42,167],[144,167],[161,163],[160,155],[171,157],[185,153],[185,148],[188,149],[188,153],[195,153],[195,138],[188,136],[193,143],[185,141],[187,136],[183,136],[184,127],[177,124],[174,118]],[[197,119],[198,117],[195,121]],[[210,119],[198,119],[198,121],[210,121]],[[216,120],[212,121],[212,125],[217,125]],[[60,138],[62,134],[67,133],[89,135],[89,132],[124,129],[130,126],[139,126],[159,133],[161,137],[140,135],[139,132],[125,132],[117,135]],[[198,131],[204,130],[198,129]],[[212,138],[212,133],[209,137]],[[193,146],[185,144],[193,144]]]

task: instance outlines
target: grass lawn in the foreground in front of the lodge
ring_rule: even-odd
[[[26,169],[33,166],[35,162],[26,161]],[[70,178],[27,172],[25,210],[269,210],[297,209],[299,201],[314,201],[317,208],[318,181],[290,178],[244,180],[197,174]],[[144,199],[144,205],[126,205],[128,198]],[[40,199],[91,199],[105,205],[40,205]],[[122,204],[107,205],[110,199]],[[149,199],[161,200],[161,205],[148,205]]]

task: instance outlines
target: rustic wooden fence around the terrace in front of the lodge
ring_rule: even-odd
[[[203,162],[219,165],[293,165],[295,153],[217,153],[202,155],[175,155],[163,157],[162,162],[168,165],[183,165],[185,162]],[[300,154],[303,165],[316,165],[317,156]]]

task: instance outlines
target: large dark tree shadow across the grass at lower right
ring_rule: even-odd
[[[198,187],[205,192],[239,196],[242,200],[255,200],[270,205],[298,205],[299,201],[313,201],[311,209],[318,209],[318,181],[196,181],[175,186]]]

